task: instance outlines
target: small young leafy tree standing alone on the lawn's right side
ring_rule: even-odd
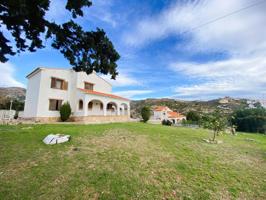
[[[215,141],[216,136],[226,129],[228,121],[219,110],[215,110],[213,113],[204,115],[201,124],[203,128],[213,130],[212,140]]]

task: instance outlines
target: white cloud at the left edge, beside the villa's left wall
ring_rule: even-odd
[[[24,84],[17,81],[14,77],[15,67],[10,63],[0,62],[0,86],[1,87],[25,87]]]

